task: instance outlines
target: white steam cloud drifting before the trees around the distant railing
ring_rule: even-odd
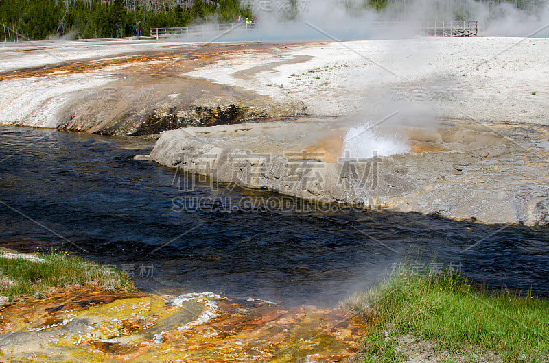
[[[241,1],[259,19],[258,29],[228,32],[220,40],[313,41],[411,38],[425,21],[478,21],[480,36],[549,36],[549,4],[476,0],[389,1],[383,10],[365,8],[362,0]],[[289,20],[288,13],[292,19]],[[384,25],[380,25],[384,23]],[[537,32],[536,32],[537,31]]]

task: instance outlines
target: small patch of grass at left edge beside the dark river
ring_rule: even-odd
[[[95,286],[104,290],[132,290],[122,271],[106,268],[62,251],[17,254],[0,251],[0,296],[40,297],[49,288]]]

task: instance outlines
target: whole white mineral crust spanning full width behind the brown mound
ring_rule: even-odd
[[[0,49],[5,72],[86,59],[95,64],[132,55],[177,52],[191,58],[215,45],[176,42],[38,42]],[[548,123],[548,38],[414,38],[316,43],[246,49],[182,66],[174,58],[112,64],[97,71],[4,79],[1,123],[56,127],[56,115],[77,91],[120,87],[156,73],[236,86],[279,103],[303,102],[314,116],[354,116],[414,125],[418,118],[464,118],[504,123]],[[185,57],[181,57],[185,58]],[[178,69],[183,71],[178,73]],[[130,72],[138,73],[128,74]],[[174,78],[176,79],[176,78]],[[165,80],[165,83],[169,82]],[[118,84],[117,84],[118,82]],[[127,86],[127,84],[125,85]],[[153,85],[154,86],[154,85]],[[164,87],[158,84],[157,88]],[[188,89],[188,88],[187,88]],[[39,95],[33,96],[39,92]],[[184,94],[183,94],[184,96]],[[167,95],[165,95],[167,97]],[[205,102],[202,100],[202,102]],[[23,112],[23,109],[36,112]],[[212,99],[211,105],[223,105]],[[107,105],[108,106],[108,105]],[[47,110],[40,115],[40,108]],[[43,120],[43,121],[41,121]],[[56,124],[57,123],[57,124]]]

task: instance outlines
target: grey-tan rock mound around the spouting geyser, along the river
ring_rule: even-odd
[[[336,162],[326,162],[333,155],[318,145],[341,127],[315,120],[176,129],[161,134],[150,159],[217,182],[319,203],[485,223],[548,222],[549,134],[543,127],[458,121],[437,129],[408,127],[401,132],[410,153],[336,155]]]

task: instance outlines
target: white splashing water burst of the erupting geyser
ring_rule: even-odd
[[[375,155],[388,156],[409,153],[410,145],[399,134],[382,134],[371,123],[360,123],[349,127],[344,136],[343,156],[345,158],[367,159]]]

